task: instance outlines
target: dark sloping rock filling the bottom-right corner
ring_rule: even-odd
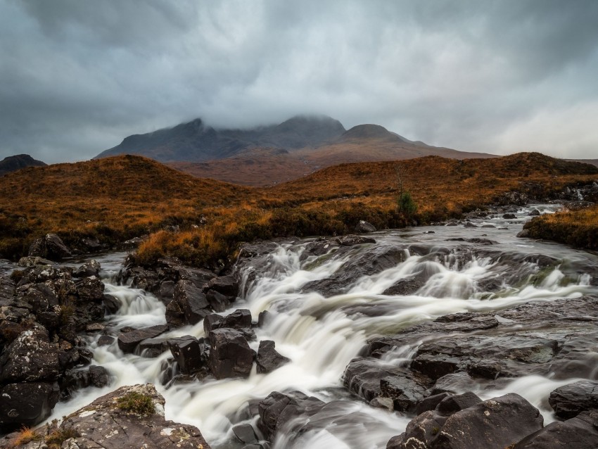
[[[561,448],[598,448],[598,412],[581,412],[565,422],[551,422],[513,446],[513,449]]]

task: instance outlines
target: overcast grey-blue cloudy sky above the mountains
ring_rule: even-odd
[[[298,113],[598,158],[598,1],[0,0],[0,158]]]

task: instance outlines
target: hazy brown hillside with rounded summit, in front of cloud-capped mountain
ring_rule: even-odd
[[[298,179],[331,165],[442,156],[454,159],[494,158],[414,142],[379,125],[358,125],[316,148],[284,151],[253,148],[229,158],[203,163],[171,163],[197,177],[211,177],[248,186],[269,186]]]

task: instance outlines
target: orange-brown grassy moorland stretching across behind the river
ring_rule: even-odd
[[[397,211],[397,166],[418,205],[411,216]],[[250,189],[196,179],[141,156],[117,156],[1,178],[0,255],[18,258],[46,232],[70,245],[83,236],[114,244],[150,234],[139,248],[139,263],[177,255],[217,268],[234,257],[241,241],[348,233],[359,220],[380,229],[425,224],[484,207],[508,191],[544,198],[596,179],[592,165],[519,153],[342,164]],[[168,232],[166,225],[179,225],[180,232]]]

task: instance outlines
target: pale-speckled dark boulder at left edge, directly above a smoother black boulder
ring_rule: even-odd
[[[58,348],[43,328],[23,331],[0,357],[0,383],[53,381],[58,374]]]

